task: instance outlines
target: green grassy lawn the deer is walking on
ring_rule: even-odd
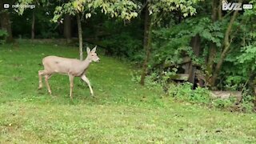
[[[38,89],[42,58],[78,58],[75,47],[22,42],[0,46],[0,143],[254,143],[256,115],[209,110],[175,102],[160,90],[131,81],[126,62],[106,57],[92,63],[87,77],[96,98],[75,78],[50,78]]]

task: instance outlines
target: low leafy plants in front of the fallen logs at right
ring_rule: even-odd
[[[185,102],[204,104],[221,110],[249,113],[253,110],[254,98],[250,96],[249,93],[243,93],[241,103],[237,103],[237,98],[233,96],[229,98],[213,98],[210,93],[210,90],[202,87],[197,87],[196,90],[192,90],[190,83],[183,83],[177,86],[170,84],[170,89],[168,90],[168,94],[178,101],[182,100]]]

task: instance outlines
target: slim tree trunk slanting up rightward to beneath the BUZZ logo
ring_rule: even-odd
[[[222,51],[221,58],[218,61],[217,66],[214,70],[214,74],[213,74],[210,86],[215,85],[215,82],[218,78],[218,73],[222,68],[222,64],[224,62],[224,59],[226,58],[226,54],[230,50],[230,33],[231,33],[231,30],[232,30],[232,26],[234,24],[234,20],[237,17],[237,15],[238,15],[238,10],[234,11],[234,14],[232,15],[232,18],[230,19],[230,23],[227,26],[227,29],[226,29],[226,32],[225,32],[225,37],[224,37],[224,44],[223,44],[224,50]]]

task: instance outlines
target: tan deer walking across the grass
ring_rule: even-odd
[[[74,87],[74,77],[80,77],[82,81],[86,82],[89,86],[91,96],[94,97],[94,91],[90,86],[89,79],[86,77],[86,70],[88,70],[90,62],[100,61],[100,58],[98,58],[98,55],[96,54],[96,48],[97,46],[90,50],[89,47],[86,47],[87,57],[83,61],[80,61],[76,58],[62,58],[57,56],[47,56],[42,58],[42,65],[44,66],[44,70],[38,70],[38,90],[42,89],[42,76],[44,76],[48,93],[52,95],[48,80],[53,74],[64,74],[68,75],[70,79],[71,100],[73,100],[72,91]]]

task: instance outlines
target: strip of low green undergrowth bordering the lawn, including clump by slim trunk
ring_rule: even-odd
[[[190,82],[184,82],[182,84],[175,85],[174,83],[166,83],[159,81],[158,74],[152,73],[151,75],[146,76],[145,85],[149,90],[163,90],[170,97],[184,102],[191,103],[201,103],[206,106],[230,110],[230,111],[239,111],[239,112],[250,112],[253,110],[253,100],[254,97],[250,94],[243,93],[242,102],[237,102],[236,97],[230,98],[213,98],[210,95],[210,90],[207,88],[197,87],[196,90],[192,90],[192,84]],[[133,74],[133,82],[140,82],[140,75]],[[164,86],[169,86],[167,90],[164,89]]]

